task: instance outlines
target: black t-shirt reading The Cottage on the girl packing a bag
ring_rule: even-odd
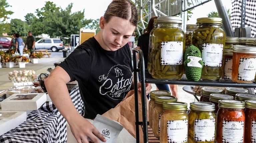
[[[132,60],[129,45],[116,51],[104,50],[91,37],[79,45],[62,67],[77,80],[85,104],[85,118],[93,119],[120,103],[132,84]]]

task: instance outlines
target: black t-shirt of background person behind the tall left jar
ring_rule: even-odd
[[[149,46],[149,34],[143,34],[139,36],[137,46],[143,51],[145,68],[148,68],[148,46]]]

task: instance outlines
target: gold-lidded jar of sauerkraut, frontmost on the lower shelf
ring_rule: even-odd
[[[160,142],[188,142],[187,104],[183,102],[164,102],[160,123]]]

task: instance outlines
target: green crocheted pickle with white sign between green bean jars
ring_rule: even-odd
[[[200,57],[201,58],[201,52],[200,50],[194,46],[194,45],[189,45],[189,47],[185,50],[185,56],[184,56],[184,67],[185,67],[185,72],[186,72],[186,77],[189,81],[199,81],[201,77],[201,72],[203,68],[203,61],[199,60],[196,66],[188,66],[188,63],[191,61],[191,59],[188,59],[188,56],[193,56],[194,58]],[[193,58],[192,57],[192,58]],[[202,67],[200,67],[202,65]]]

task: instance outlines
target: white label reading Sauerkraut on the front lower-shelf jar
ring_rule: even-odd
[[[168,143],[188,141],[188,120],[167,121]]]

